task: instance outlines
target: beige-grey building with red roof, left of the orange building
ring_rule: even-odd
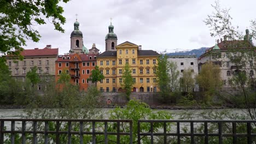
[[[21,52],[24,56],[23,61],[14,61],[13,58],[7,57],[7,65],[11,71],[11,75],[18,81],[25,82],[26,74],[33,67],[38,68],[40,77],[45,77],[45,82],[50,82],[55,76],[55,61],[58,56],[59,49],[52,49],[51,45],[46,45],[44,49],[28,49]],[[42,83],[38,83],[37,89],[42,89]]]

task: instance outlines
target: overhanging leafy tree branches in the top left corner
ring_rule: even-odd
[[[67,3],[69,0],[63,0]],[[64,32],[61,27],[66,21],[62,16],[63,8],[59,0],[0,1],[0,55],[10,55],[22,59],[20,52],[26,46],[26,39],[38,42],[40,35],[34,25],[53,23],[55,29]],[[45,18],[44,18],[45,17]]]

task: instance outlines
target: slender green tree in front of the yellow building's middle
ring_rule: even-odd
[[[125,64],[122,75],[123,83],[121,83],[121,86],[123,86],[123,88],[125,89],[127,100],[130,100],[131,89],[134,84],[131,73],[132,71],[130,69],[129,64]]]

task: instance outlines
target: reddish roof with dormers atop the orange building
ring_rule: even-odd
[[[60,55],[57,58],[56,62],[69,62],[74,55],[77,55],[77,54],[73,54],[73,55]],[[80,59],[83,62],[85,62],[85,61],[96,61],[96,59],[94,59],[94,57],[95,56],[97,57],[97,55],[95,55],[95,54],[79,54],[78,56],[80,57]],[[92,57],[92,59],[90,59],[90,56]],[[63,59],[62,57],[65,57],[65,59]],[[67,59],[67,57],[70,57],[70,59]]]

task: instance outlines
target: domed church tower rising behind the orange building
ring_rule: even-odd
[[[71,33],[71,49],[69,53],[82,53],[83,52],[83,33],[79,31],[79,22],[74,22],[74,31]]]

